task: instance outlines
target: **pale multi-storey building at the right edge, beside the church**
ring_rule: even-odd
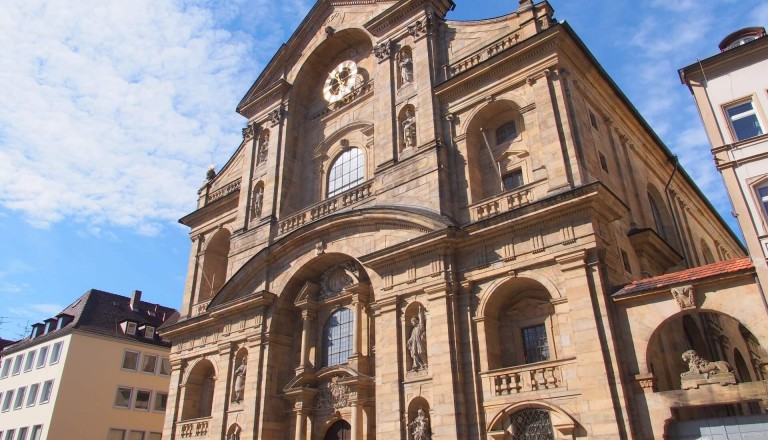
[[[680,69],[693,94],[717,169],[763,291],[768,289],[768,38],[752,27],[728,35],[720,53]]]

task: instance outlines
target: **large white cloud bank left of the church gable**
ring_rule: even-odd
[[[263,28],[254,35],[233,27],[246,5],[262,12],[247,14]],[[69,218],[156,234],[194,209],[206,166],[237,147],[245,120],[233,109],[287,38],[281,26],[295,25],[268,17],[307,7],[0,3],[0,51],[12,60],[0,71],[0,206],[39,227]]]

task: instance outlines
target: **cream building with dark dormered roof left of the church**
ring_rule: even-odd
[[[159,440],[172,308],[90,290],[3,351],[0,439]]]

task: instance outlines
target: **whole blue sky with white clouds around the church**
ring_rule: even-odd
[[[314,2],[0,2],[0,337],[90,288],[178,308],[190,241],[177,219],[238,146],[234,108]],[[456,0],[449,19],[511,12]],[[734,224],[677,69],[765,26],[759,0],[552,0]],[[275,19],[275,17],[278,17]]]

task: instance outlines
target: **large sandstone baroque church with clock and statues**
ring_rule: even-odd
[[[765,411],[744,249],[568,24],[514,3],[316,2],[180,220],[164,438],[651,439]]]

